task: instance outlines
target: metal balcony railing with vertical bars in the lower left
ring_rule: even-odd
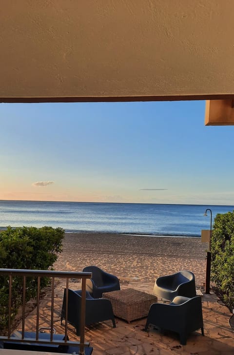
[[[86,301],[86,280],[92,276],[91,272],[74,272],[74,271],[43,271],[43,270],[20,270],[20,269],[0,269],[0,275],[8,277],[9,283],[9,305],[8,305],[8,334],[0,336],[0,341],[10,341],[17,343],[33,343],[33,344],[53,344],[63,346],[78,346],[79,354],[84,355],[84,347],[88,345],[85,342],[85,301]],[[11,308],[12,308],[12,278],[15,276],[23,277],[23,292],[22,292],[22,331],[21,337],[11,336]],[[25,304],[26,304],[26,278],[35,277],[38,280],[37,287],[37,317],[36,317],[36,338],[25,338]],[[50,318],[50,339],[39,339],[39,300],[40,300],[40,279],[41,277],[51,278],[51,318]],[[68,294],[69,279],[81,279],[81,316],[80,316],[80,341],[69,341],[67,335],[67,313],[68,313],[68,297],[66,297],[66,317],[64,340],[53,340],[54,330],[54,293],[55,293],[55,278],[66,279],[66,294]]]

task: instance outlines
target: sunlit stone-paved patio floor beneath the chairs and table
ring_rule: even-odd
[[[64,333],[64,325],[60,326],[60,310],[65,283],[60,282],[55,290],[54,327],[57,333]],[[154,284],[141,284],[138,282],[122,282],[121,289],[134,288],[151,293]],[[70,281],[70,288],[80,289],[80,284]],[[50,327],[50,300],[47,294],[40,303],[40,327]],[[162,300],[158,300],[159,302]],[[229,320],[232,313],[211,293],[203,296],[204,332],[194,332],[188,338],[187,345],[179,343],[174,333],[160,334],[151,327],[149,332],[143,331],[146,318],[128,324],[116,318],[117,328],[112,327],[111,321],[98,323],[86,328],[85,340],[94,348],[93,355],[234,355],[234,331]],[[36,309],[25,320],[25,330],[35,331]],[[20,328],[18,328],[20,330]],[[74,327],[69,325],[70,340],[79,340]]]

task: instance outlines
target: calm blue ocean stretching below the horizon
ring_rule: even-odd
[[[0,201],[0,228],[61,227],[66,232],[199,237],[217,213],[234,206],[92,202]]]

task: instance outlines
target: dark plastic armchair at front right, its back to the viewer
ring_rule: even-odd
[[[161,330],[167,329],[178,333],[180,344],[186,345],[188,335],[197,329],[200,328],[204,335],[201,297],[176,296],[170,304],[152,304],[145,331],[150,324],[158,326]]]

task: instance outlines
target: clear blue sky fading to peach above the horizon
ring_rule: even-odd
[[[0,104],[0,199],[234,205],[205,102]]]

